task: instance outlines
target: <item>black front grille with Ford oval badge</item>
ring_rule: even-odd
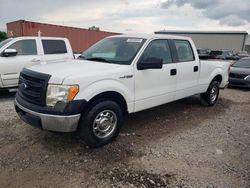
[[[18,95],[30,103],[45,106],[49,78],[50,75],[23,69],[19,76]]]

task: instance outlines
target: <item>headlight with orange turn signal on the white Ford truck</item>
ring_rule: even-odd
[[[79,91],[78,85],[54,85],[49,84],[47,89],[47,106],[55,106],[57,102],[72,101]]]

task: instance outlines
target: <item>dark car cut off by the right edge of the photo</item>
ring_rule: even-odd
[[[250,88],[250,57],[242,58],[231,66],[229,85]]]

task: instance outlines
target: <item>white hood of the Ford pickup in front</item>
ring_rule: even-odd
[[[39,64],[29,67],[30,70],[51,75],[50,83],[61,84],[63,80],[70,76],[83,75],[93,76],[103,71],[113,70],[121,65],[87,61],[87,60],[71,60],[60,63]]]

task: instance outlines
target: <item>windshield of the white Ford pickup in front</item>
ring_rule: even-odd
[[[127,37],[105,38],[83,52],[78,59],[129,65],[145,40]]]

